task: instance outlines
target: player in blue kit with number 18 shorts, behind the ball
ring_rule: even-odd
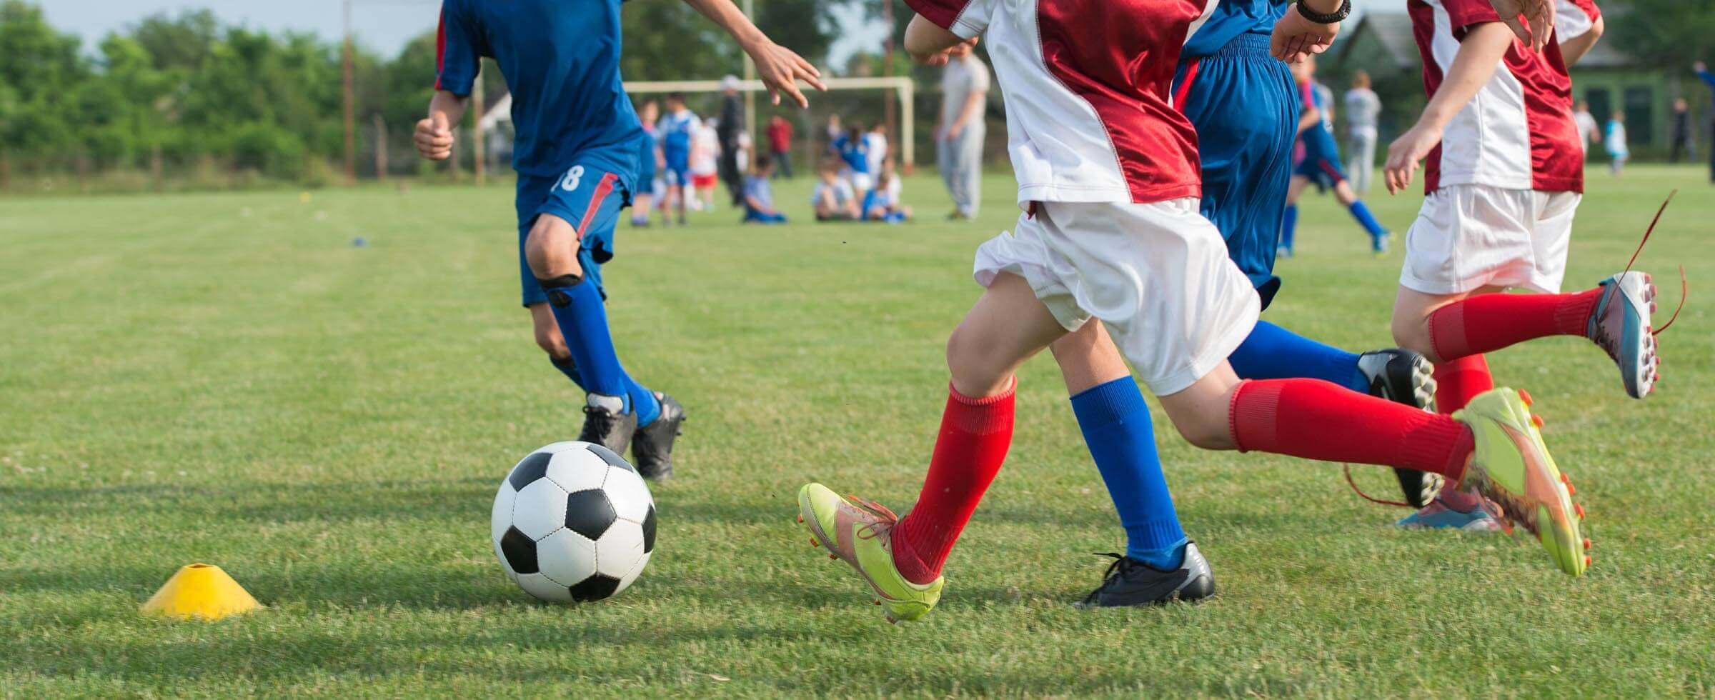
[[[465,115],[480,58],[494,58],[513,94],[520,278],[537,345],[587,393],[578,439],[616,453],[633,446],[638,472],[662,479],[684,410],[619,364],[600,276],[619,209],[636,192],[643,137],[619,82],[621,2],[444,0],[436,94],[415,142],[424,158],[451,156],[451,125]],[[731,0],[686,3],[739,41],[777,103],[787,93],[804,105],[794,79],[820,88],[815,67],[768,41]]]

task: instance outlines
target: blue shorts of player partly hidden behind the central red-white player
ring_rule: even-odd
[[[1226,254],[1250,278],[1262,307],[1279,292],[1274,249],[1291,184],[1298,93],[1269,38],[1240,34],[1209,57],[1180,63],[1173,88],[1197,127],[1202,216],[1226,238]]]

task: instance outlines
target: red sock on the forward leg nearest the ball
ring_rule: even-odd
[[[923,479],[918,504],[894,527],[894,563],[907,580],[928,583],[942,575],[954,542],[995,474],[1000,474],[1012,446],[1015,388],[1017,381],[1005,393],[988,398],[964,396],[948,388],[930,475]]]

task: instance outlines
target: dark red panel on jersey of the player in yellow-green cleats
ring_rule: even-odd
[[[1043,63],[1101,120],[1132,202],[1202,196],[1197,130],[1170,103],[1207,0],[1053,0],[1036,7]]]

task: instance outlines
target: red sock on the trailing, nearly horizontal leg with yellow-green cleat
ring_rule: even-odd
[[[1415,468],[1459,480],[1475,450],[1471,429],[1319,379],[1238,384],[1228,410],[1238,450]]]

